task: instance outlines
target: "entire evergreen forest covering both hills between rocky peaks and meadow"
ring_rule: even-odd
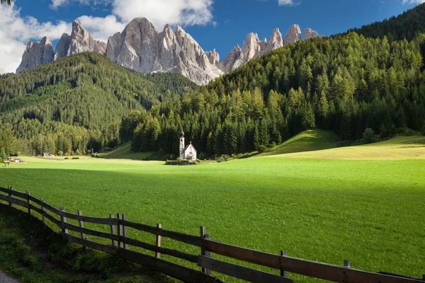
[[[0,77],[0,150],[85,154],[131,142],[200,158],[266,151],[305,129],[343,141],[425,132],[425,4],[380,23],[302,40],[196,86],[82,53]],[[370,132],[370,130],[368,130]]]

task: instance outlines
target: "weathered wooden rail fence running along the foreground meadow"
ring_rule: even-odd
[[[287,277],[288,272],[305,275],[307,277],[325,279],[331,282],[425,282],[425,275],[423,279],[416,279],[386,272],[373,273],[351,269],[349,267],[348,260],[344,262],[344,267],[342,267],[292,258],[285,255],[284,252],[281,252],[280,255],[275,255],[271,253],[263,253],[259,250],[250,250],[247,248],[232,246],[227,243],[211,240],[210,236],[205,233],[204,226],[200,227],[199,236],[193,236],[186,233],[162,229],[160,224],[157,226],[148,226],[145,224],[131,222],[126,219],[125,214],[118,214],[117,216],[111,214],[108,218],[85,216],[81,211],[78,211],[77,214],[72,214],[66,212],[63,207],[60,209],[52,207],[52,205],[45,203],[43,200],[39,200],[30,195],[30,192],[28,191],[23,193],[13,190],[13,187],[8,187],[7,189],[0,187],[0,200],[8,202],[10,207],[13,207],[16,204],[23,207],[25,210],[28,209],[29,216],[34,216],[33,212],[40,214],[43,222],[49,220],[56,226],[60,227],[60,229],[62,229],[62,237],[69,242],[77,243],[86,248],[110,253],[111,255],[123,258],[124,260],[144,265],[176,279],[180,279],[183,282],[219,282],[219,280],[211,276],[211,270],[230,277],[243,279],[247,282],[293,282],[293,279]],[[60,218],[60,220],[57,218]],[[78,221],[79,225],[69,224],[67,223],[67,219],[74,219]],[[84,223],[86,222],[110,226],[111,233],[84,228]],[[137,239],[129,238],[128,227],[154,234],[157,238],[156,244],[152,245]],[[79,236],[73,236],[69,233],[69,231],[77,232],[79,233]],[[89,241],[86,235],[107,238],[111,240],[111,245]],[[196,246],[199,248],[200,254],[192,255],[179,250],[164,248],[161,246],[162,237],[171,238],[182,243]],[[155,253],[155,255],[153,256],[136,252],[135,250],[131,250],[130,246],[151,250]],[[234,263],[217,260],[212,258],[211,253],[280,270],[280,276],[236,265]],[[196,263],[202,271],[193,270],[189,267],[184,267],[174,262],[164,260],[161,258],[162,254],[171,255],[174,258],[180,258],[187,260],[188,262]]]

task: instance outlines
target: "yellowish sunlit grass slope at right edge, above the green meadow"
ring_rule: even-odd
[[[387,141],[381,141],[375,144],[363,144],[361,146],[346,146],[312,152],[289,152],[287,151],[288,154],[281,153],[276,156],[351,160],[424,159],[425,137],[395,137]]]

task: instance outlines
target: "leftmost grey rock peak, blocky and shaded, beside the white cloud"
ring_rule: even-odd
[[[52,42],[48,37],[43,37],[41,42],[28,42],[22,55],[22,62],[16,69],[16,74],[23,70],[33,69],[36,66],[52,62],[54,57]]]

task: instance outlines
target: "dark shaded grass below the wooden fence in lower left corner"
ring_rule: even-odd
[[[40,221],[4,204],[0,204],[0,212],[0,268],[20,282],[172,282],[111,255],[92,250],[84,253],[45,229]]]

